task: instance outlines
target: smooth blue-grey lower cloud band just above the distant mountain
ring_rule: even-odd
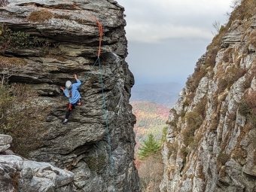
[[[200,38],[170,38],[165,44],[128,41],[126,61],[136,84],[179,82],[184,84],[194,72],[197,60],[206,50],[208,41]]]

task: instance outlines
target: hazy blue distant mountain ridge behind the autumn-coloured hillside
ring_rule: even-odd
[[[151,101],[172,108],[183,87],[184,85],[178,83],[135,85],[132,88],[130,101]]]

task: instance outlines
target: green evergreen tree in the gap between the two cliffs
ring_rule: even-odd
[[[151,156],[160,150],[160,145],[154,139],[153,134],[148,135],[148,139],[143,140],[142,148],[139,148],[139,159],[143,160],[145,157]]]

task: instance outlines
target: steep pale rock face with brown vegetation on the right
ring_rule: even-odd
[[[256,17],[241,6],[169,114],[162,192],[256,191]]]

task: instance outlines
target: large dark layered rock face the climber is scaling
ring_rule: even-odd
[[[38,138],[41,146],[29,157],[69,169],[75,191],[140,191],[133,163],[136,117],[129,99],[134,78],[125,62],[124,8],[112,0],[8,2],[0,8],[0,24],[29,34],[33,44],[2,46],[5,56],[26,62],[11,70],[10,81],[31,84],[39,103],[50,107],[46,130]],[[99,49],[96,20],[103,30],[100,66],[93,66]],[[83,105],[62,124],[68,101],[59,86],[74,81],[74,74],[84,83],[79,90]]]

